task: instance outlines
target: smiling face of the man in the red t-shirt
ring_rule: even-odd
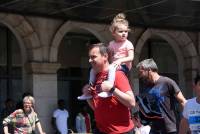
[[[89,63],[96,72],[102,71],[107,59],[108,56],[101,55],[98,47],[94,47],[89,51]]]

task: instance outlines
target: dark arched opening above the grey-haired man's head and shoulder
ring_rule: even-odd
[[[155,60],[159,74],[170,77],[179,83],[176,54],[167,41],[158,36],[148,39],[142,48],[139,61],[147,58]]]

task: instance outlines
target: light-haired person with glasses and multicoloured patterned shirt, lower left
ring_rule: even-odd
[[[26,96],[23,99],[23,109],[17,109],[3,120],[4,134],[9,134],[8,124],[14,127],[14,134],[33,134],[38,128],[40,134],[45,134],[42,130],[37,113],[33,110],[35,99]]]

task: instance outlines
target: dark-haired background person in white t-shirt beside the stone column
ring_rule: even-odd
[[[68,118],[69,113],[65,109],[65,101],[58,100],[58,108],[53,112],[52,125],[57,134],[68,133]]]

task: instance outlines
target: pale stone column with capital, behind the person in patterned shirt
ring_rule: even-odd
[[[28,86],[35,98],[35,108],[46,134],[52,134],[51,117],[57,106],[57,63],[28,63]]]

